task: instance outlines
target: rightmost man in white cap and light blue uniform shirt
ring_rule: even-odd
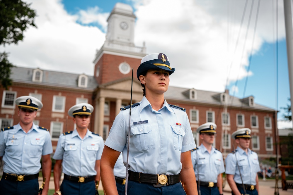
[[[249,149],[251,130],[239,129],[232,133],[238,147],[225,159],[226,177],[232,195],[258,194],[258,172],[260,171],[257,153]],[[243,186],[245,189],[243,189]],[[245,193],[246,192],[246,193]]]

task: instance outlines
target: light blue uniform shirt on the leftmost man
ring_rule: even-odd
[[[53,152],[50,133],[33,124],[25,133],[20,124],[0,133],[0,156],[3,171],[17,175],[33,175],[40,171],[41,157]]]

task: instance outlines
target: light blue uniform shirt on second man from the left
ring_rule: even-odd
[[[67,135],[60,135],[53,159],[63,160],[62,168],[66,175],[97,175],[96,160],[100,160],[104,149],[104,140],[98,134],[87,130],[81,139],[77,130]]]

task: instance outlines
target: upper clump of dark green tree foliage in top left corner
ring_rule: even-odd
[[[0,0],[0,45],[17,44],[23,32],[34,24],[36,12],[21,0]]]

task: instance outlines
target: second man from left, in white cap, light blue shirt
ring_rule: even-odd
[[[100,181],[100,158],[104,140],[99,134],[88,130],[93,106],[79,103],[68,110],[74,117],[74,131],[60,135],[53,159],[55,193],[62,195],[95,195],[96,183]],[[62,168],[61,168],[62,164]],[[61,170],[64,180],[59,187]]]

